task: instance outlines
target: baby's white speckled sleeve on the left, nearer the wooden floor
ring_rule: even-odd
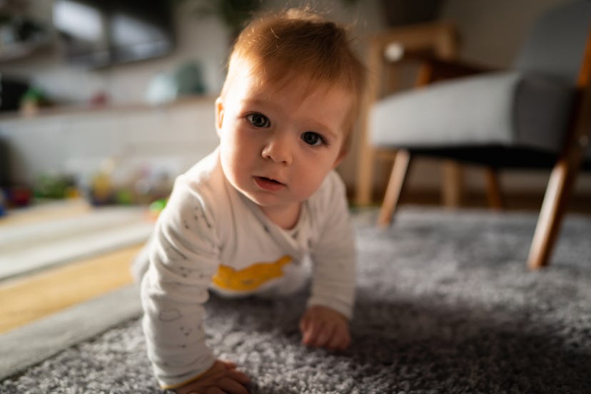
[[[213,223],[203,199],[177,181],[148,246],[149,267],[141,283],[143,330],[163,388],[196,378],[215,361],[203,329],[203,304],[220,256]]]

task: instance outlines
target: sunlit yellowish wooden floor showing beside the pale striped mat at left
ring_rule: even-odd
[[[70,201],[12,211],[1,218],[0,232],[5,226],[82,216],[91,209],[84,201]],[[132,283],[130,264],[141,246],[0,281],[0,334]]]

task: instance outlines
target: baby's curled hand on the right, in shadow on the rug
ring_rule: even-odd
[[[302,343],[318,348],[343,350],[351,342],[349,322],[336,310],[314,305],[300,320]]]

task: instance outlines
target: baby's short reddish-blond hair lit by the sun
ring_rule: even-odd
[[[260,84],[287,84],[304,77],[308,89],[325,84],[348,91],[352,103],[344,126],[350,139],[365,93],[366,69],[343,26],[309,9],[263,15],[243,29],[233,46],[222,97],[245,66]]]

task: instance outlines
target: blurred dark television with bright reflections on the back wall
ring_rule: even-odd
[[[166,56],[174,49],[169,0],[54,0],[66,60],[101,68]]]

